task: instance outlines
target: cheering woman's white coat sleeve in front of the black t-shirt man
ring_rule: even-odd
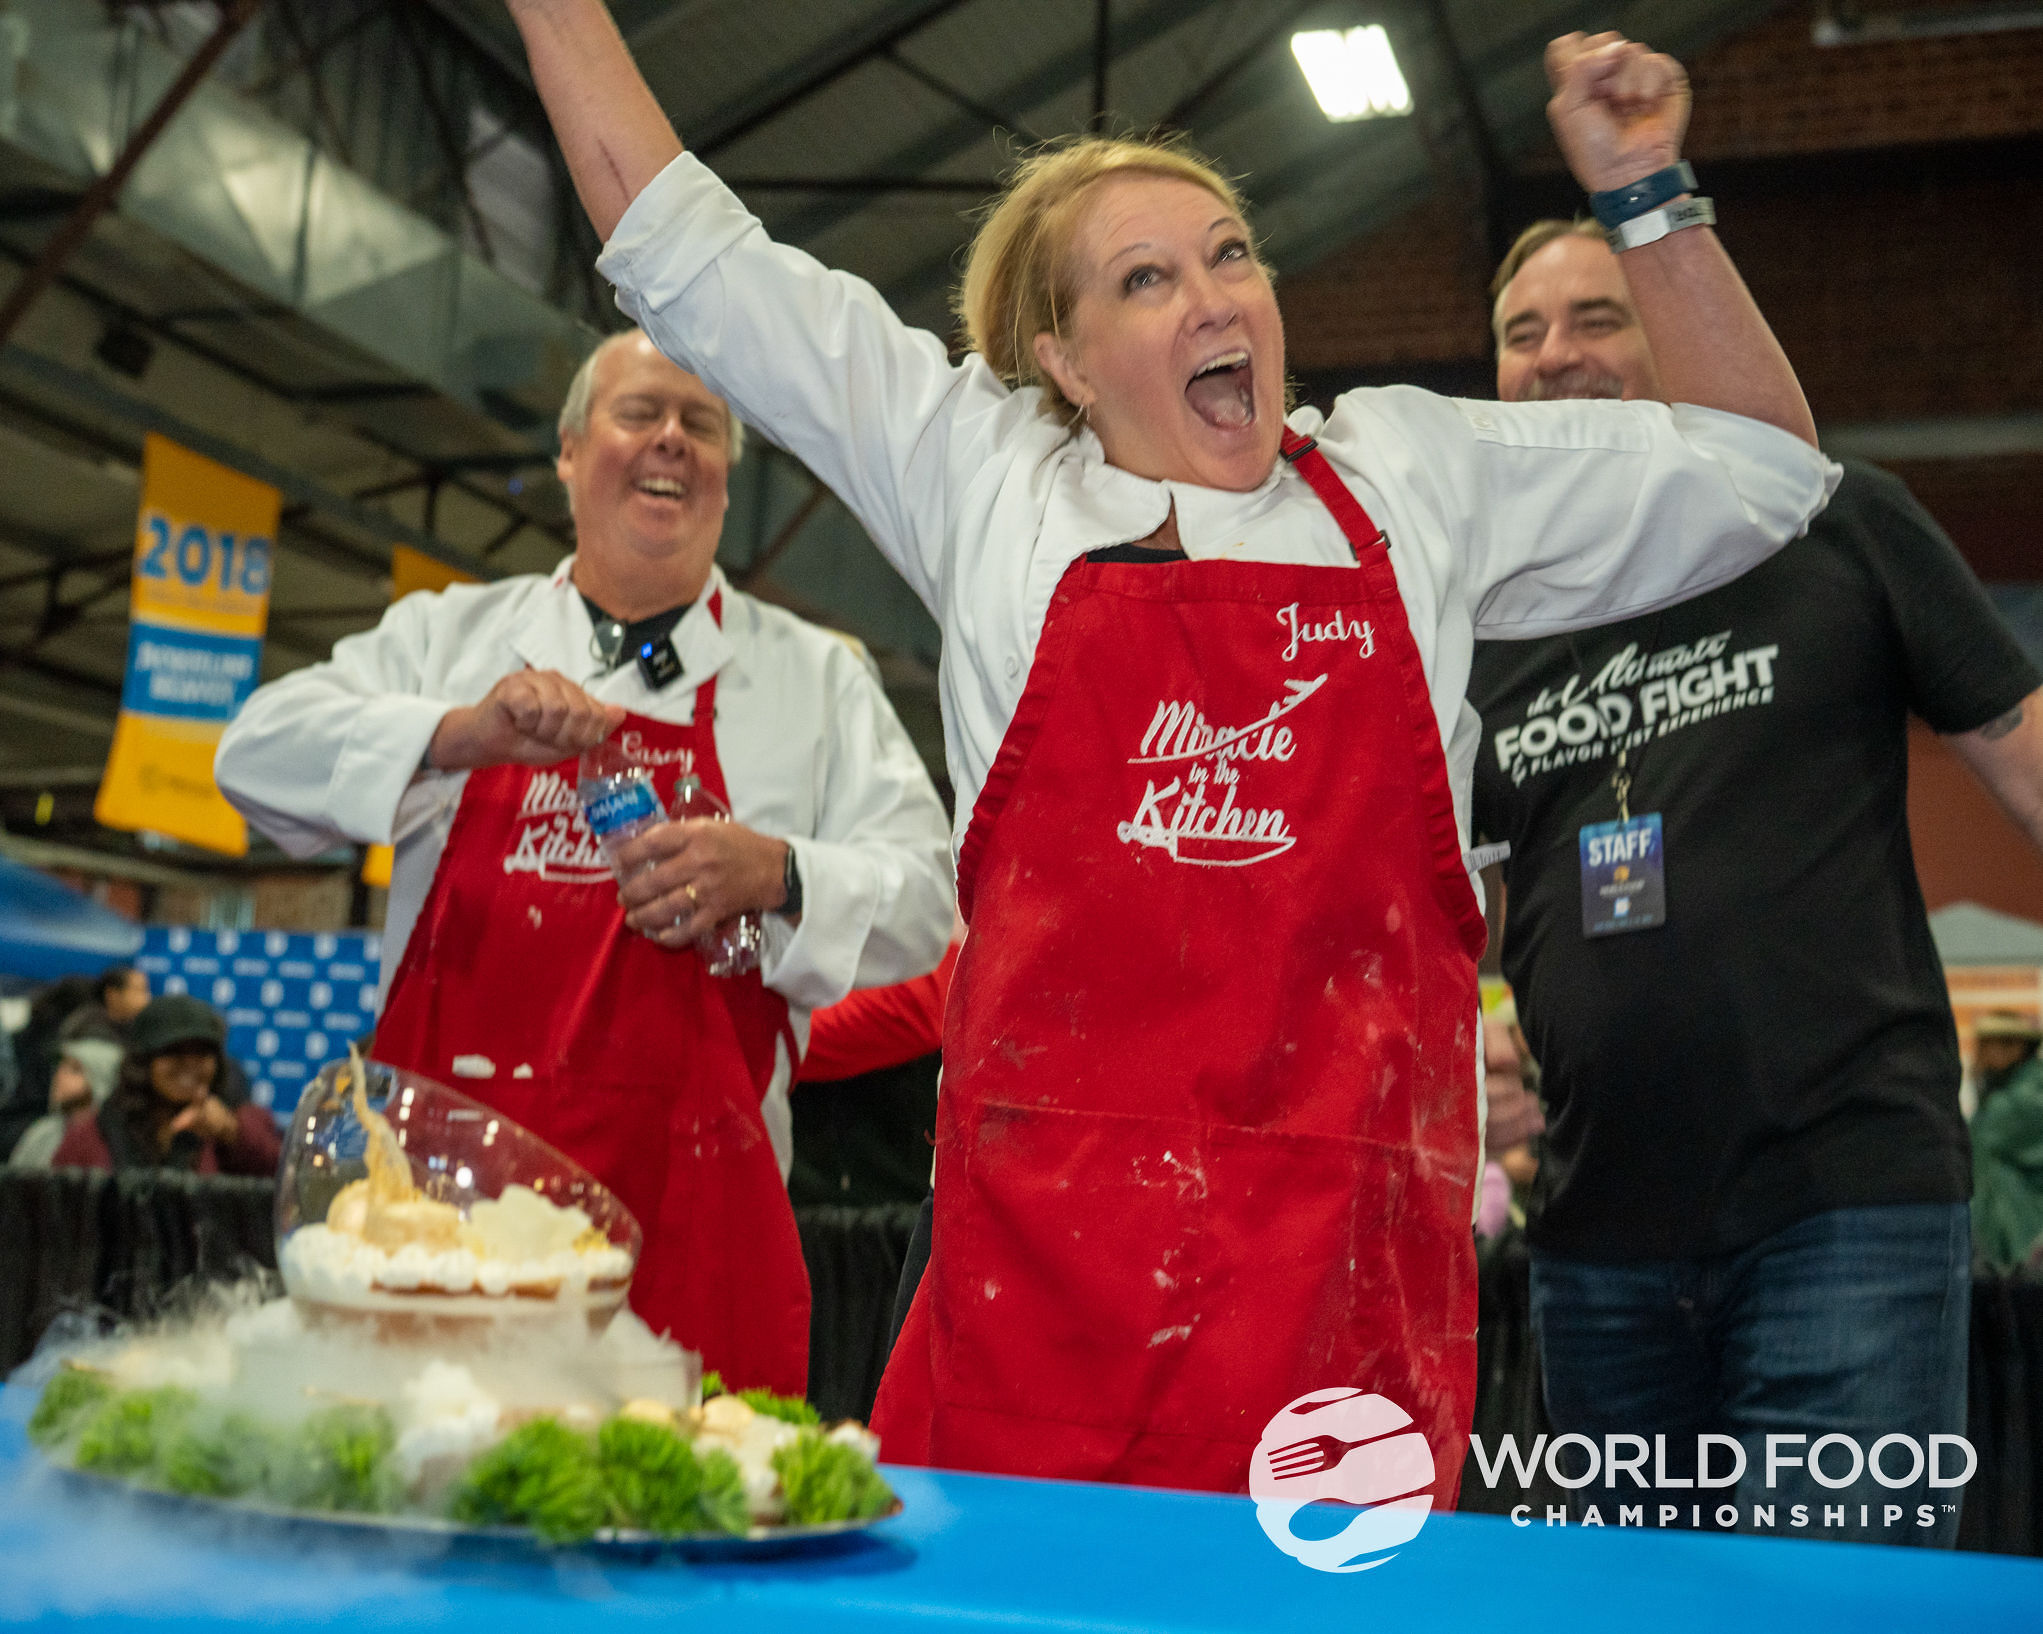
[[[1841,476],[1800,437],[1692,404],[1369,396],[1414,429],[1487,639],[1587,629],[1726,584],[1798,537]]]

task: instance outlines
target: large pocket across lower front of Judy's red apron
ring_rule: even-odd
[[[948,1399],[1254,1442],[1381,1348],[1406,1166],[1365,1140],[983,1103],[958,1205],[938,1193]]]

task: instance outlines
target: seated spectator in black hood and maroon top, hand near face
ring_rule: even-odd
[[[262,1107],[229,1107],[227,1023],[184,993],[135,1017],[121,1080],[94,1117],[63,1132],[57,1168],[184,1168],[274,1174],[282,1142]]]

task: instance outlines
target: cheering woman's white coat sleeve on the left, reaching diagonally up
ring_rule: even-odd
[[[597,261],[668,357],[842,498],[936,607],[954,492],[1034,396],[909,329],[862,278],[766,237],[682,153],[631,202]]]

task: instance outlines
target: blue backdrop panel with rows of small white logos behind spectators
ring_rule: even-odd
[[[157,993],[190,993],[227,1017],[227,1052],[257,1105],[290,1121],[321,1066],[376,1025],[374,931],[200,931],[149,925],[135,964]]]

